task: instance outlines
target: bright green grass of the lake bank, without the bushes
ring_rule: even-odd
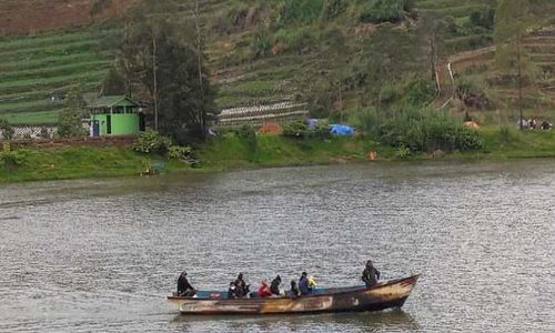
[[[215,139],[196,150],[201,169],[159,157],[139,154],[124,148],[24,149],[24,163],[0,167],[0,183],[38,180],[85,179],[139,175],[148,165],[162,172],[218,172],[236,169],[334,164],[367,161],[371,151],[379,161],[395,160],[508,160],[555,158],[555,131],[484,129],[484,150],[467,153],[411,153],[364,138],[292,140],[258,137],[248,142],[236,135]]]

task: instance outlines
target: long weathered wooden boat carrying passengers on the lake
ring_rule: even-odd
[[[305,296],[228,299],[223,292],[198,292],[194,297],[169,296],[182,314],[285,314],[381,311],[401,307],[420,275],[374,286],[316,289]]]

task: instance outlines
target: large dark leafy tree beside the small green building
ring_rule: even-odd
[[[199,16],[193,22],[180,21],[173,17],[174,4],[145,0],[132,10],[118,63],[128,89],[150,99],[155,128],[182,142],[186,137],[205,137],[215,91],[204,67]]]

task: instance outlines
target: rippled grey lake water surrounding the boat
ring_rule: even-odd
[[[379,163],[0,188],[1,332],[554,332],[555,161]],[[401,311],[186,317],[225,290],[422,273]]]

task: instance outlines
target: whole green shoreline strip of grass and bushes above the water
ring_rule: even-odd
[[[433,128],[433,127],[432,127]],[[461,131],[460,129],[454,130]],[[0,182],[153,175],[171,172],[219,172],[236,169],[316,165],[367,161],[481,160],[555,158],[555,132],[515,129],[464,130],[458,139],[427,129],[411,142],[397,134],[394,144],[375,137],[329,135],[302,124],[281,135],[258,134],[252,128],[221,133],[196,145],[173,145],[154,132],[132,147],[33,147],[3,143]],[[435,133],[435,134],[434,134]],[[422,132],[421,132],[422,134]],[[391,135],[390,135],[391,137]],[[456,137],[456,135],[455,135]],[[457,143],[457,140],[462,142]]]

